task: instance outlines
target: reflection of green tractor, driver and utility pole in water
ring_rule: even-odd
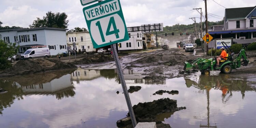
[[[194,86],[201,90],[206,90],[207,93],[207,125],[201,125],[200,128],[217,128],[210,125],[210,90],[217,89],[222,91],[222,103],[226,103],[232,98],[232,91],[240,91],[242,99],[245,97],[245,91],[253,90],[252,88],[246,88],[247,82],[243,80],[233,80],[228,74],[219,74],[217,76],[200,75],[198,82],[192,81],[188,78],[184,78],[186,86]],[[228,95],[229,94],[229,95]],[[228,95],[228,96],[227,96]]]

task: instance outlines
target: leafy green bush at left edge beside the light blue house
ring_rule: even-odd
[[[0,70],[12,67],[9,57],[12,57],[15,53],[18,52],[18,49],[15,47],[16,43],[5,43],[3,40],[0,40]]]

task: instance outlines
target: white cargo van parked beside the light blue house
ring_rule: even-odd
[[[50,49],[49,48],[30,48],[20,56],[21,59],[31,59],[37,57],[45,57],[48,58],[50,56]]]

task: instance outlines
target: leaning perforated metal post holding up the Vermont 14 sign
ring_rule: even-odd
[[[125,79],[124,79],[124,75],[123,75],[123,72],[122,72],[122,67],[120,66],[120,62],[119,62],[119,59],[118,59],[118,55],[117,55],[117,51],[116,51],[116,44],[112,44],[111,49],[113,50],[113,57],[114,57],[114,60],[116,62],[116,68],[117,68],[117,71],[118,71],[118,76],[119,76],[121,84],[122,84],[122,88],[123,88],[124,95],[125,95],[125,100],[126,100],[126,103],[127,103],[128,109],[129,109],[129,113],[130,113],[130,116],[131,116],[132,125],[135,128],[136,125],[137,125],[137,122],[136,122],[136,118],[135,118],[135,115],[134,115],[134,112],[133,112],[133,109],[132,109],[129,93],[128,93],[128,90],[127,90],[127,87],[126,87],[126,84],[125,84]]]

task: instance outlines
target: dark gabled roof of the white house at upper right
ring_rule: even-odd
[[[245,7],[245,8],[232,8],[226,9],[226,19],[244,19],[248,14],[250,14],[254,7]]]

